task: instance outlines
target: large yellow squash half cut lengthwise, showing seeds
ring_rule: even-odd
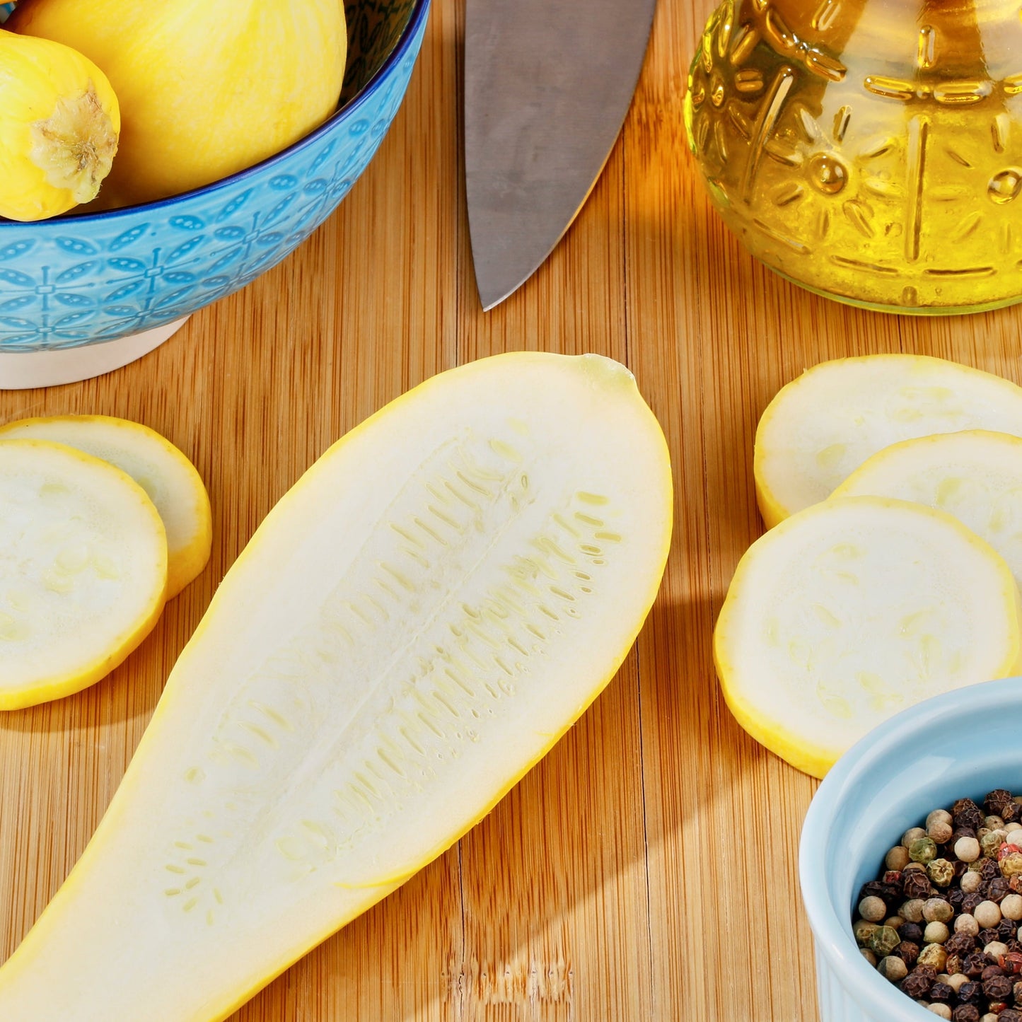
[[[670,523],[663,434],[602,357],[483,359],[354,429],[225,577],[0,1019],[224,1019],[550,749]]]

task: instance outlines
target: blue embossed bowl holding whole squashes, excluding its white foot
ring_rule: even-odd
[[[366,169],[408,88],[429,0],[349,0],[337,111],[245,171],[145,205],[0,220],[0,353],[152,330],[238,290],[321,224]]]

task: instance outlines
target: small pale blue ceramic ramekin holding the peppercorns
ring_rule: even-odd
[[[994,788],[1022,793],[1022,678],[918,703],[849,749],[802,825],[799,880],[816,944],[821,1022],[932,1022],[862,957],[851,933],[858,889],[926,815]]]

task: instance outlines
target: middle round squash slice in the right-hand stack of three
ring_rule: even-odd
[[[870,494],[955,515],[1004,557],[1022,585],[1022,438],[967,429],[892,444],[833,496]]]

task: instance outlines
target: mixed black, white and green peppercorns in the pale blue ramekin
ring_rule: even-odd
[[[1020,803],[998,788],[934,809],[860,891],[863,956],[951,1022],[1022,1022]]]

